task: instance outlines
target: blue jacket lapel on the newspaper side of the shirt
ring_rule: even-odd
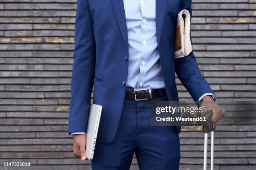
[[[167,0],[156,0],[156,36],[158,47],[160,45],[160,37],[164,24],[164,16],[166,13]]]

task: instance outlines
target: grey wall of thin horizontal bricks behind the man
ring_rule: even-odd
[[[195,55],[218,100],[255,100],[256,0],[192,1]],[[67,135],[75,14],[76,0],[0,0],[0,170],[90,169]],[[200,130],[182,129],[182,170],[202,169]],[[256,128],[217,130],[215,170],[255,170]]]

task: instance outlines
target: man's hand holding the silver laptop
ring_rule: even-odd
[[[86,145],[86,135],[84,134],[77,134],[73,135],[73,141],[74,141],[74,156],[81,158],[82,160],[86,160],[86,151],[85,151],[85,145]]]

